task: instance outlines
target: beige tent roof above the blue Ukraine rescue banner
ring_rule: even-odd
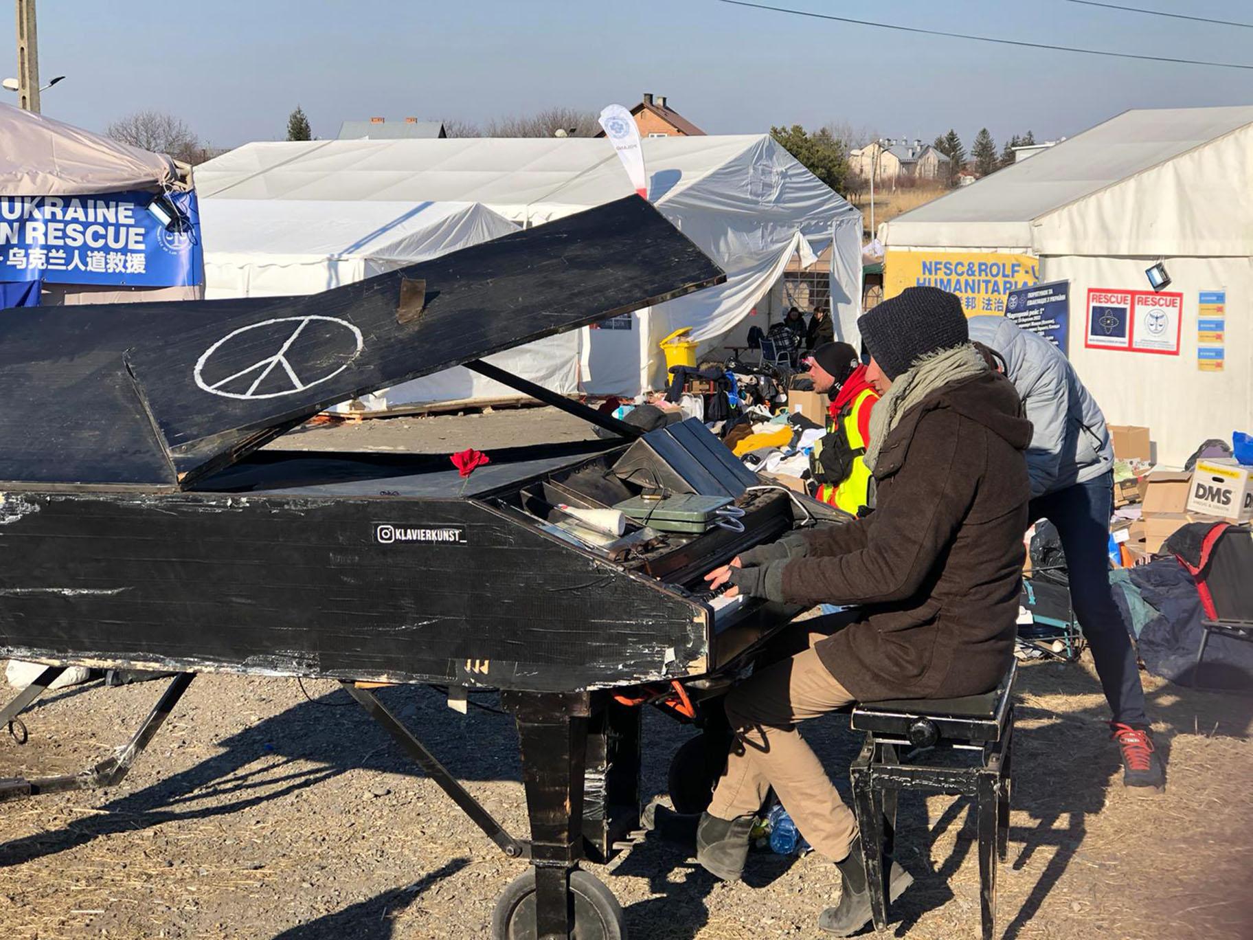
[[[0,196],[90,196],[178,182],[164,154],[8,104],[0,104]]]

